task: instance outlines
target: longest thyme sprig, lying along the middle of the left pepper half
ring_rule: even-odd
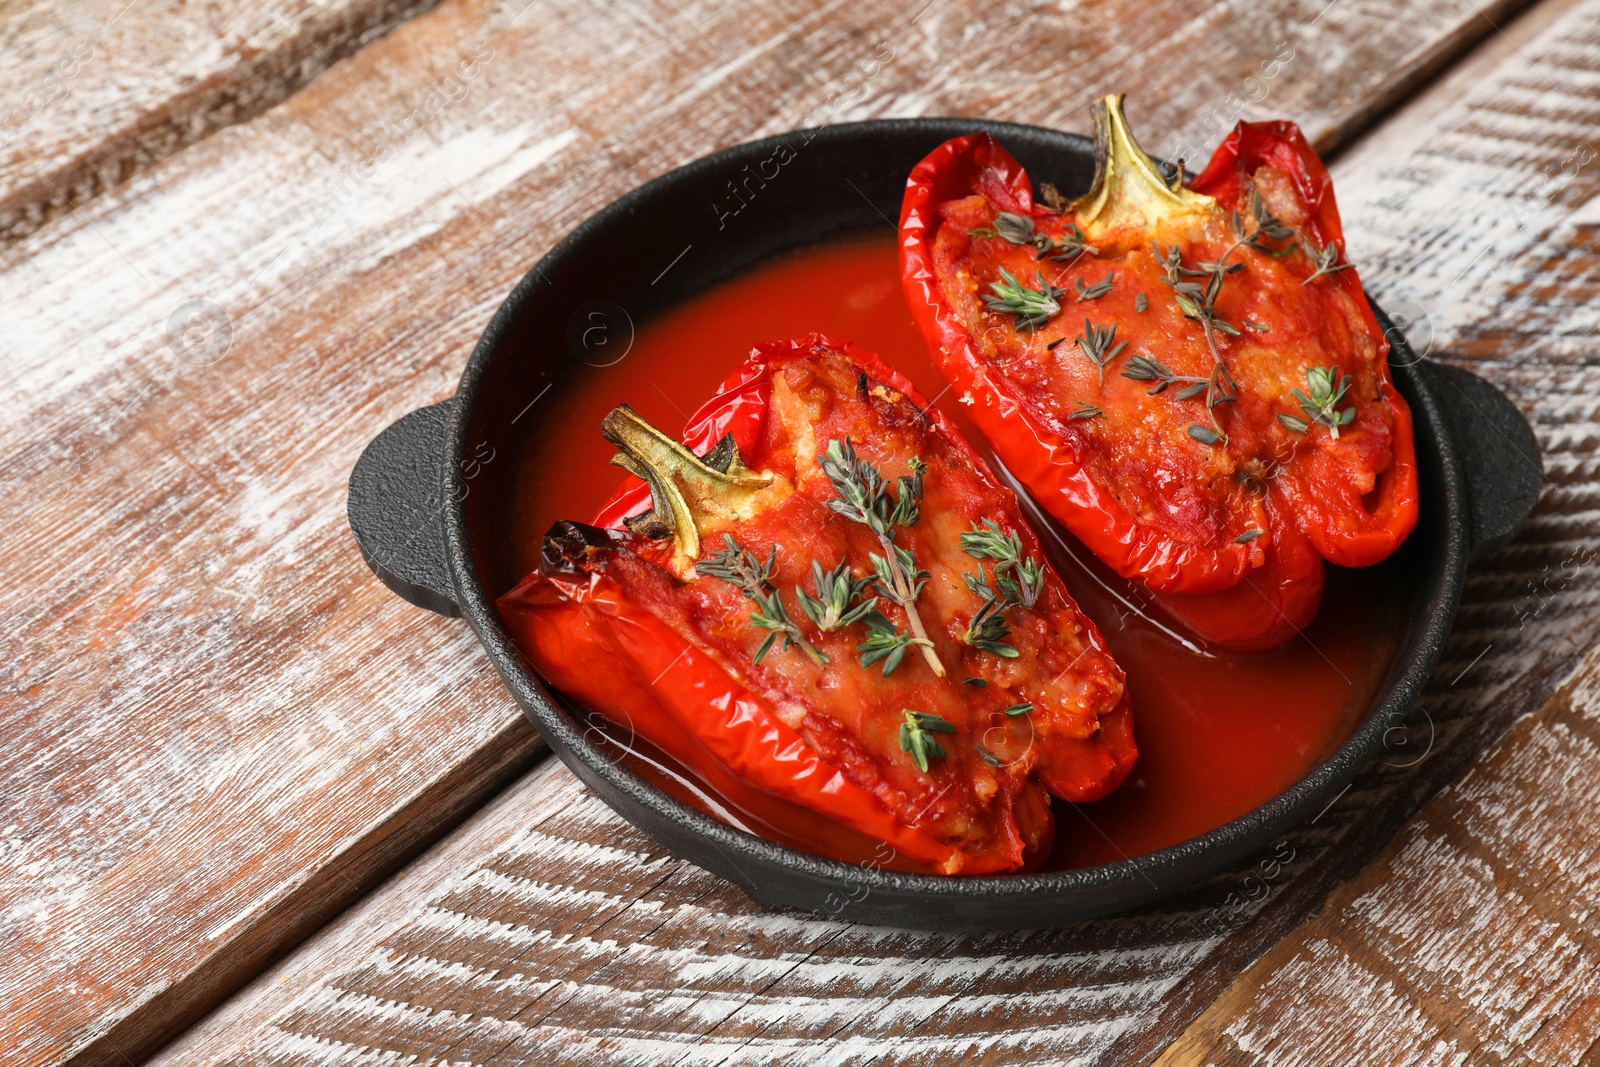
[[[818,459],[822,466],[822,474],[827,475],[827,480],[834,485],[834,491],[838,493],[827,506],[845,518],[867,526],[878,537],[883,553],[872,553],[872,581],[886,600],[899,605],[906,613],[910,638],[904,643],[917,645],[933,673],[942,678],[944,664],[939,662],[939,654],[928,638],[922,616],[917,614],[917,597],[922,593],[923,585],[928,584],[930,574],[917,566],[917,557],[910,549],[894,544],[896,531],[915,525],[922,515],[922,477],[928,470],[928,466],[914,456],[910,461],[912,474],[899,478],[896,494],[891,498],[888,486],[883,483],[883,475],[870,462],[856,456],[856,450],[848,437],[845,440],[830,440],[827,450]],[[870,619],[870,616],[867,617]],[[869,635],[867,640],[870,643],[872,637]],[[872,661],[866,659],[874,651],[877,651],[877,646],[864,653],[862,665],[877,661],[877,657]],[[883,654],[888,656],[890,651]],[[899,665],[899,659],[894,661],[894,665]],[[885,673],[890,673],[890,670],[893,669],[886,669]]]

